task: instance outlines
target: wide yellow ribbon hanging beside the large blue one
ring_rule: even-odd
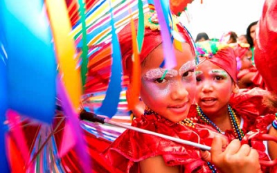
[[[66,4],[62,0],[46,0],[45,3],[51,21],[62,81],[73,104],[73,108],[77,112],[80,105],[82,87],[80,71],[77,69],[77,60],[74,58],[75,45],[73,38],[69,35],[71,32],[71,24],[66,10]]]

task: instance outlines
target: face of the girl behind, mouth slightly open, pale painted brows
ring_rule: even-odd
[[[235,89],[230,75],[208,60],[199,64],[195,75],[195,100],[204,113],[213,115],[220,110],[227,110],[232,91]]]

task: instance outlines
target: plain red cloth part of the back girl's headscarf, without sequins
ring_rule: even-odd
[[[203,58],[213,62],[213,64],[219,66],[221,69],[224,69],[224,71],[231,76],[233,81],[237,81],[237,60],[235,59],[235,52],[233,51],[233,48],[222,48],[220,51],[217,51],[213,57]]]

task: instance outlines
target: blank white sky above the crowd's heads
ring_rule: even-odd
[[[195,39],[205,32],[210,38],[220,38],[234,31],[246,34],[247,26],[258,21],[265,0],[195,0],[188,4],[180,19]]]

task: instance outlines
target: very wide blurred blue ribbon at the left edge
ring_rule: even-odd
[[[56,62],[43,1],[0,3],[1,32],[7,42],[8,107],[50,123],[55,113]]]

